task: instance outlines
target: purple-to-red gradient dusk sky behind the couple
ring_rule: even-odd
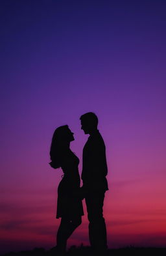
[[[1,253],[51,248],[54,129],[94,111],[106,143],[108,246],[166,246],[166,3],[1,1]],[[68,245],[88,242],[82,225]]]

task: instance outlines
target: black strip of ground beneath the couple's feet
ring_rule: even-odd
[[[34,248],[31,251],[19,251],[18,253],[10,252],[6,253],[6,256],[56,256],[56,253],[51,251],[46,251],[43,248]],[[71,246],[68,249],[66,256],[120,256],[120,255],[129,255],[129,256],[147,256],[147,255],[156,255],[156,256],[166,256],[166,248],[134,248],[134,247],[127,247],[127,248],[120,248],[120,249],[108,249],[106,253],[92,253],[91,249],[88,246]],[[58,255],[57,255],[58,256]]]

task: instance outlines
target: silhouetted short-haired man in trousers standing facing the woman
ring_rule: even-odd
[[[104,251],[107,248],[106,224],[102,214],[104,193],[108,190],[106,175],[106,148],[99,130],[97,116],[88,112],[80,117],[81,129],[89,134],[83,149],[82,190],[86,199],[91,248]]]

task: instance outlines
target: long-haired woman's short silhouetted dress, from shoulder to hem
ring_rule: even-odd
[[[78,173],[79,159],[69,150],[62,160],[64,176],[58,186],[56,218],[76,218],[84,215],[80,199],[80,175]]]

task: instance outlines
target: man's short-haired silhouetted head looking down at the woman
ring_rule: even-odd
[[[85,113],[80,117],[81,129],[85,134],[91,134],[91,132],[97,130],[98,118],[93,112]]]

